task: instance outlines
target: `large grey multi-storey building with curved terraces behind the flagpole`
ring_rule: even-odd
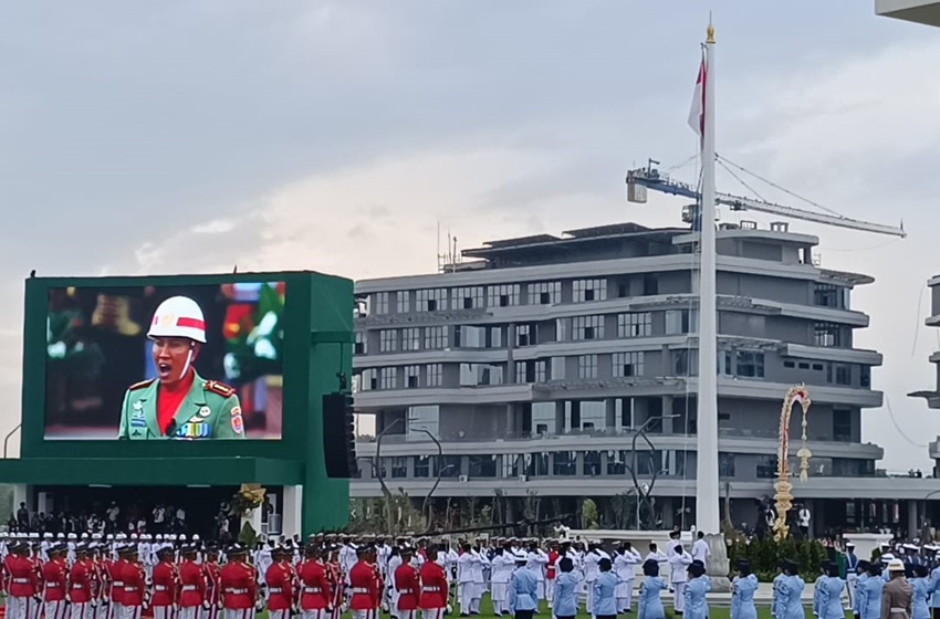
[[[531,512],[533,497],[542,516],[591,497],[602,526],[630,526],[630,493],[652,484],[661,525],[688,526],[697,242],[688,229],[625,223],[492,241],[443,272],[358,282],[355,402],[382,440],[361,439],[373,465],[353,496],[379,496],[382,475],[418,503],[435,489],[437,502],[477,497],[505,517]],[[793,483],[814,528],[917,526],[934,480],[886,478],[881,448],[861,440],[861,411],[882,400],[871,386],[881,355],[855,347],[868,316],[850,300],[873,280],[814,264],[817,244],[785,223],[718,232],[720,473],[731,517],[753,525],[754,500],[773,494],[783,398],[804,382],[811,479]],[[634,440],[639,430],[651,447]],[[796,410],[795,473],[802,431]]]

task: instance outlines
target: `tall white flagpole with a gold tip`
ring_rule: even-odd
[[[718,479],[718,307],[714,231],[714,28],[706,40],[702,123],[702,191],[699,207],[699,389],[696,460],[696,525],[706,534],[721,531]]]

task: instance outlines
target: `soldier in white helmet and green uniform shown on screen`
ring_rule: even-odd
[[[174,296],[157,307],[147,337],[157,378],[132,385],[124,395],[119,439],[243,439],[244,420],[236,390],[206,380],[194,364],[206,344],[202,310]]]

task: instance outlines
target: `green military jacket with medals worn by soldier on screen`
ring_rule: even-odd
[[[194,370],[195,374],[195,370]],[[158,380],[132,385],[121,408],[118,439],[243,439],[244,420],[236,390],[198,374],[173,418],[170,436],[157,421]]]

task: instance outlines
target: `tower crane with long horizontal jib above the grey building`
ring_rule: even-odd
[[[661,191],[662,193],[670,193],[672,196],[691,198],[697,202],[701,200],[701,193],[697,188],[687,182],[672,180],[668,175],[660,174],[656,164],[658,164],[658,161],[650,159],[647,167],[637,168],[627,172],[627,199],[630,202],[645,203],[647,189]],[[876,234],[890,234],[892,237],[900,237],[901,239],[907,237],[904,223],[901,223],[900,227],[871,223],[837,214],[818,213],[805,209],[785,207],[783,204],[767,202],[766,200],[756,200],[731,193],[717,192],[716,202],[730,207],[732,211],[758,211],[791,219],[802,219],[805,221],[813,221],[815,223],[848,228],[852,230],[874,232]],[[682,211],[682,220],[687,223],[694,223],[697,219],[696,211],[697,207],[687,207]]]

